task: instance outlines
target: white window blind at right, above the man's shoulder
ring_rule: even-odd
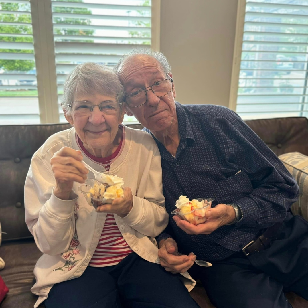
[[[236,112],[308,116],[308,1],[246,1]]]

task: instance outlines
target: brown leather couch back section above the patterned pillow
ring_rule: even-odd
[[[288,152],[308,155],[308,119],[288,117],[249,120],[245,123],[278,156]]]

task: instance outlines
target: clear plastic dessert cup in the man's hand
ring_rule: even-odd
[[[186,213],[181,213],[181,208],[175,209],[171,212],[171,214],[175,214],[176,216],[180,217],[183,220],[188,221],[193,225],[199,225],[206,221],[205,212],[211,208],[212,202],[214,201],[213,198],[198,198],[197,201],[201,202],[204,201],[204,207],[193,209]]]

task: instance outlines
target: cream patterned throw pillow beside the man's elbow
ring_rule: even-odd
[[[292,213],[301,215],[308,221],[308,156],[300,152],[290,152],[278,157],[299,186],[298,201],[292,205]]]

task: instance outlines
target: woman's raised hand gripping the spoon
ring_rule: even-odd
[[[81,163],[83,156],[80,151],[64,147],[50,160],[55,176],[54,195],[61,200],[68,200],[74,182],[83,184],[87,179],[88,169]]]

